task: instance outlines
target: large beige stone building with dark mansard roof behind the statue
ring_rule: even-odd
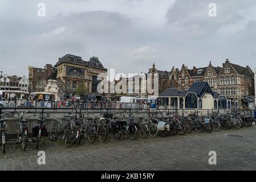
[[[59,58],[55,67],[59,88],[62,88],[60,93],[63,96],[74,96],[79,82],[83,83],[87,93],[97,93],[97,85],[100,82],[97,76],[107,72],[95,56],[89,61],[84,61],[80,56],[67,54]]]

